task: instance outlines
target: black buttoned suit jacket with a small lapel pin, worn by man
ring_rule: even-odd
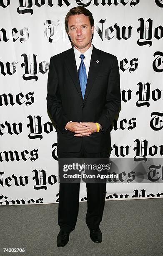
[[[47,108],[57,125],[58,150],[88,153],[110,151],[110,125],[121,104],[117,57],[93,46],[84,99],[73,48],[50,58]],[[104,132],[75,137],[69,121],[98,122]]]

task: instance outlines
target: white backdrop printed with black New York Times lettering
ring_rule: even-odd
[[[77,5],[93,13],[94,46],[118,58],[122,110],[111,131],[111,158],[146,164],[152,177],[111,182],[106,200],[163,197],[163,0],[0,0],[1,205],[58,202],[48,67],[50,56],[71,47],[64,18]]]

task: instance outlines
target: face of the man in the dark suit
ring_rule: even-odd
[[[91,45],[93,27],[84,14],[71,15],[68,18],[68,35],[75,48],[87,50]]]

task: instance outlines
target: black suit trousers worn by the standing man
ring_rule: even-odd
[[[79,153],[58,151],[59,158],[108,158],[108,151],[87,153],[82,145]],[[103,217],[105,205],[106,182],[86,183],[87,214],[86,224],[89,229],[98,228]],[[63,231],[71,232],[75,229],[79,209],[80,183],[60,183],[58,225]]]

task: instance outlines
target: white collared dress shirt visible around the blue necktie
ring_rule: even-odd
[[[74,46],[73,46],[73,49],[74,49],[74,54],[75,54],[76,67],[78,70],[79,66],[80,66],[80,62],[81,62],[80,54],[82,54],[82,53],[80,51],[78,51]],[[91,59],[91,55],[92,55],[92,50],[93,50],[93,45],[91,43],[90,48],[83,53],[85,56],[83,61],[85,64],[87,78],[88,78],[88,72],[89,72],[89,67],[90,67],[90,59]]]

